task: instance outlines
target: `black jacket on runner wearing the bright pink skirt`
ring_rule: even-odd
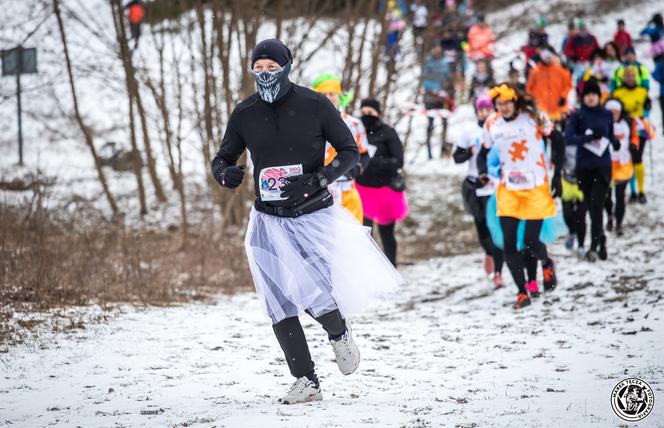
[[[365,125],[366,127],[366,125]],[[385,187],[397,171],[403,168],[403,146],[397,131],[379,121],[373,128],[366,127],[369,144],[376,147],[366,171],[355,181],[365,187]]]

